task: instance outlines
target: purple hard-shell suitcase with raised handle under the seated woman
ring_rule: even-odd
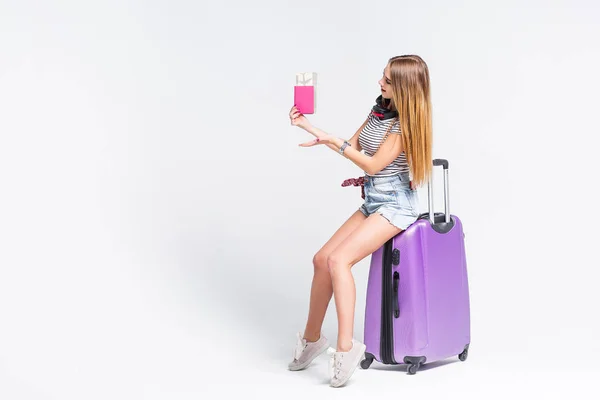
[[[448,207],[448,161],[436,159],[433,165],[444,168],[445,213],[433,212],[430,180],[429,213],[371,255],[364,369],[375,359],[408,364],[412,375],[426,362],[467,358],[470,307],[464,234]]]

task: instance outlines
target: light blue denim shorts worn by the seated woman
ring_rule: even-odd
[[[419,199],[411,189],[408,174],[373,177],[365,176],[365,202],[359,210],[369,216],[381,214],[392,225],[405,230],[419,216]]]

